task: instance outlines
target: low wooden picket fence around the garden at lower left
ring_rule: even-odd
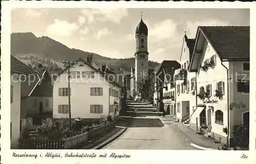
[[[26,138],[19,140],[20,149],[72,149],[76,146],[86,143],[89,140],[96,138],[107,131],[115,128],[115,122],[105,126],[84,132],[79,135],[68,137],[65,139],[36,139]]]

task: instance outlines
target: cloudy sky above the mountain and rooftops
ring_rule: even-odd
[[[195,38],[198,26],[249,26],[249,9],[18,8],[11,32],[48,36],[69,48],[110,58],[134,57],[135,29],[148,28],[149,60],[179,60],[184,32]]]

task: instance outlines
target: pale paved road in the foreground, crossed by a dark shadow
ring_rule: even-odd
[[[124,134],[103,149],[196,150],[161,118],[134,118]]]

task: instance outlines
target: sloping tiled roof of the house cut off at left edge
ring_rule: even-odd
[[[36,72],[33,68],[29,67],[22,61],[18,60],[11,55],[11,73],[25,74],[25,75],[38,75],[41,77],[41,74]]]

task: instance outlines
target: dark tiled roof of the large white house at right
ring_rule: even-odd
[[[199,26],[221,60],[250,60],[249,26]]]

